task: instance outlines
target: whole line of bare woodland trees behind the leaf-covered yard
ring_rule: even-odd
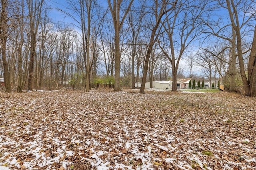
[[[1,0],[6,92],[188,77],[195,69],[256,96],[254,0]],[[60,15],[59,21],[53,14]],[[62,21],[60,21],[62,20]]]

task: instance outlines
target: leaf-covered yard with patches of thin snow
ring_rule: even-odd
[[[0,170],[256,169],[255,102],[226,92],[0,94]]]

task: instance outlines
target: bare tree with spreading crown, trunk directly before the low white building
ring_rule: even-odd
[[[199,36],[201,23],[198,19],[204,14],[206,4],[207,1],[180,1],[172,20],[163,24],[166,34],[162,35],[160,48],[172,64],[172,91],[177,90],[176,79],[180,59],[188,46]]]

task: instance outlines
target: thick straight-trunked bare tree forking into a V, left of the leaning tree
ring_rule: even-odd
[[[113,19],[114,29],[115,29],[115,84],[114,84],[114,91],[118,92],[121,90],[120,86],[120,62],[121,62],[121,56],[120,56],[120,30],[122,28],[122,25],[124,23],[124,20],[130,10],[130,7],[132,6],[134,0],[130,0],[128,3],[128,7],[124,9],[124,15],[120,16],[121,12],[121,6],[123,5],[123,0],[113,0],[111,3],[110,0],[108,0],[108,6],[110,8],[110,12]],[[121,20],[120,20],[121,19]]]

